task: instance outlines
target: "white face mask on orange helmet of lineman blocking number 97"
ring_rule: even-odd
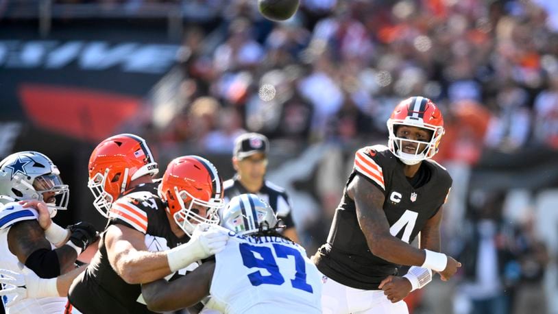
[[[225,205],[223,200],[211,199],[209,202],[205,202],[193,197],[193,195],[184,190],[179,192],[176,186],[174,186],[174,196],[181,208],[173,215],[174,221],[189,237],[192,236],[192,232],[197,224],[219,224],[217,210]],[[191,200],[188,208],[186,208],[184,200]],[[192,211],[194,204],[207,208],[206,217],[202,217]]]

